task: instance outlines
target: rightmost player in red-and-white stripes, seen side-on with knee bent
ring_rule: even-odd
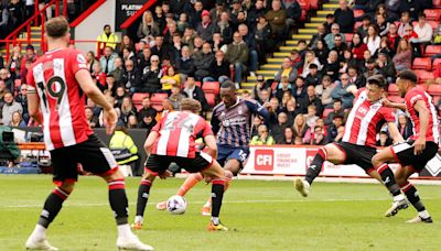
[[[413,135],[407,142],[392,145],[377,153],[373,159],[373,164],[381,175],[381,179],[387,186],[401,187],[407,199],[418,210],[418,216],[407,222],[432,222],[432,218],[426,210],[417,188],[408,182],[410,175],[421,172],[426,164],[434,157],[440,142],[439,121],[437,110],[432,103],[432,98],[422,89],[416,86],[417,75],[412,70],[402,70],[397,78],[399,95],[405,98],[405,103],[385,105],[399,108],[410,114],[413,123]],[[390,162],[398,162],[401,166],[394,173],[387,165]],[[394,216],[405,205],[405,197],[396,200],[386,216]]]

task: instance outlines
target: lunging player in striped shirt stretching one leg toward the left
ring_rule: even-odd
[[[381,182],[372,165],[372,157],[376,154],[376,134],[383,124],[387,123],[394,141],[402,141],[395,124],[392,110],[381,105],[381,98],[386,94],[385,88],[386,80],[380,75],[375,75],[367,80],[366,90],[359,94],[349,112],[342,143],[330,143],[319,149],[308,167],[304,181],[300,178],[294,181],[295,188],[302,196],[308,196],[309,188],[319,176],[325,161],[334,164],[356,164],[368,175]],[[400,193],[398,186],[387,188],[392,195]]]

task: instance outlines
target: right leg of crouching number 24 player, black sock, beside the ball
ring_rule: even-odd
[[[204,176],[209,177],[212,181],[212,204],[213,204],[213,206],[212,206],[212,220],[208,225],[208,230],[227,231],[228,228],[223,226],[219,220],[219,212],[220,212],[222,200],[224,198],[225,184],[226,184],[225,172],[220,167],[219,163],[214,161],[213,164],[207,170],[204,170],[202,173]]]

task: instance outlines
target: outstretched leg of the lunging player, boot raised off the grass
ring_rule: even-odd
[[[299,193],[303,197],[306,197],[310,186],[312,185],[313,181],[319,176],[325,161],[330,161],[334,164],[342,164],[345,162],[345,160],[346,152],[337,144],[326,144],[325,146],[320,148],[310,166],[308,167],[304,179],[294,179],[295,189],[299,190]]]

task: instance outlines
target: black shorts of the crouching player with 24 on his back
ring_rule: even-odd
[[[198,173],[208,168],[213,161],[213,157],[204,152],[196,153],[195,159],[150,154],[146,161],[144,168],[146,172],[158,176],[165,172],[170,163],[174,162],[189,173]]]

